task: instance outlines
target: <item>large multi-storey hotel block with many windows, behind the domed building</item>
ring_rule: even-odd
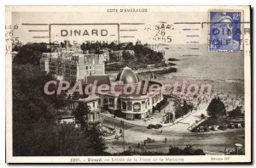
[[[40,68],[66,81],[85,80],[86,76],[104,76],[107,53],[83,52],[79,47],[55,48],[52,53],[42,53]]]

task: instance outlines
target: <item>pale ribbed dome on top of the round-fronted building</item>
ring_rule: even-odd
[[[139,79],[133,70],[125,67],[116,78],[116,81],[123,81],[125,84],[138,83]]]

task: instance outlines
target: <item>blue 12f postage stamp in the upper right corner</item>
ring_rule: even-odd
[[[210,51],[241,51],[241,12],[210,11]]]

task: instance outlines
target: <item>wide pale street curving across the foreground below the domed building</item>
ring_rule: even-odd
[[[204,109],[200,109],[195,112],[191,117],[183,119],[183,122],[190,123],[201,115]],[[171,127],[162,128],[162,133],[156,129],[147,129],[145,126],[137,126],[131,123],[125,122],[125,148],[136,149],[137,144],[143,144],[144,140],[148,137],[154,139],[154,143],[148,143],[146,149],[168,152],[169,145],[175,145],[183,148],[187,144],[191,144],[193,148],[202,148],[206,151],[223,152],[224,148],[234,148],[235,143],[241,143],[244,148],[244,129],[233,129],[226,131],[216,132],[189,132],[187,130],[188,124],[177,123]],[[113,117],[105,117],[103,121],[104,126],[115,127],[118,132],[122,129],[122,123],[120,120]],[[164,143],[165,138],[167,142]],[[117,153],[123,151],[123,139],[113,139],[106,141],[108,145],[108,152]]]

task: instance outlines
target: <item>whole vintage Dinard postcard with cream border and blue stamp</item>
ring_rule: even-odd
[[[250,163],[250,6],[6,6],[8,163]]]

